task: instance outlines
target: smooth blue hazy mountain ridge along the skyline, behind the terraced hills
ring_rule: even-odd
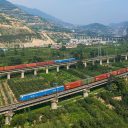
[[[25,12],[33,15],[45,18],[52,24],[58,27],[64,27],[72,30],[76,30],[78,33],[85,33],[86,35],[94,36],[127,36],[128,35],[128,22],[122,22],[118,24],[103,25],[100,23],[92,23],[89,25],[73,25],[63,22],[49,14],[46,14],[38,9],[32,9],[25,6],[17,5]]]

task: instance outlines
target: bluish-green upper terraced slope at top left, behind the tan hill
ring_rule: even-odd
[[[52,24],[47,22],[45,19],[30,15],[6,0],[0,0],[0,13],[5,13],[11,17],[19,19],[21,22],[32,27],[42,26],[44,28],[50,28],[50,26],[52,26]]]

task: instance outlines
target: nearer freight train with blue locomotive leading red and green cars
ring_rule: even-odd
[[[51,94],[54,94],[54,93],[70,90],[70,89],[77,88],[77,87],[80,87],[80,86],[83,86],[83,85],[87,85],[87,84],[90,84],[90,83],[93,83],[93,82],[97,82],[97,81],[107,79],[111,75],[117,76],[117,75],[120,75],[120,74],[123,74],[123,73],[126,73],[126,72],[128,72],[128,68],[122,68],[122,69],[119,69],[119,70],[116,70],[116,71],[101,74],[101,75],[91,77],[91,78],[88,78],[88,79],[70,82],[70,83],[67,83],[67,84],[64,84],[64,85],[61,85],[61,86],[58,86],[58,87],[45,89],[45,90],[42,90],[42,91],[39,91],[39,92],[33,92],[33,93],[25,94],[25,95],[20,95],[19,101],[24,102],[24,101],[31,100],[31,99],[34,99],[34,98],[39,98],[39,97],[42,97],[42,96],[47,96],[47,95],[51,95]]]

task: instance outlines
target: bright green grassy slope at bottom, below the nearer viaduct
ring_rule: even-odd
[[[36,110],[43,114],[43,123],[35,128],[127,128],[128,124],[114,110],[93,97],[73,101],[52,111],[49,108]],[[27,119],[27,114],[25,117]],[[28,125],[25,128],[30,128]]]

